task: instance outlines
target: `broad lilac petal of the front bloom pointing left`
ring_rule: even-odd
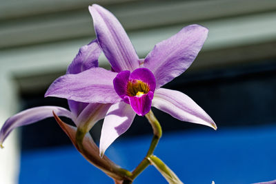
[[[56,79],[45,96],[56,96],[86,103],[117,103],[121,101],[114,90],[117,73],[103,68],[90,68],[79,74],[66,74]]]

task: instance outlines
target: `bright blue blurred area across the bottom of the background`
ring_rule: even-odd
[[[151,136],[119,139],[107,154],[132,170],[150,145]],[[276,178],[276,125],[217,131],[170,132],[161,138],[159,156],[184,183],[256,183]],[[153,166],[134,183],[166,183]],[[21,155],[20,184],[112,183],[72,146],[25,151]]]

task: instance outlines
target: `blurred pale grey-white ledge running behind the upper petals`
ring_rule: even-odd
[[[203,21],[201,24],[209,29],[203,52],[276,41],[276,12]],[[156,43],[176,34],[181,28],[182,25],[175,25],[168,28],[130,32],[129,36],[139,56],[145,57]],[[5,65],[5,68],[1,67],[0,70],[19,75],[65,70],[77,54],[79,47],[89,41],[90,39],[79,39],[2,50],[0,62]],[[101,65],[107,65],[104,57],[100,58],[100,62]]]

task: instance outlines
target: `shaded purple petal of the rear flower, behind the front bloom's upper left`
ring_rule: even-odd
[[[78,74],[90,68],[99,66],[98,59],[101,54],[101,48],[97,39],[91,41],[79,49],[79,53],[68,66],[67,74]]]

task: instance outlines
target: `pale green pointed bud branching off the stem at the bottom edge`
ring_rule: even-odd
[[[161,161],[157,156],[152,155],[148,157],[148,161],[157,168],[157,170],[166,178],[166,181],[170,184],[183,184],[177,175],[170,170],[170,168],[163,162]]]

